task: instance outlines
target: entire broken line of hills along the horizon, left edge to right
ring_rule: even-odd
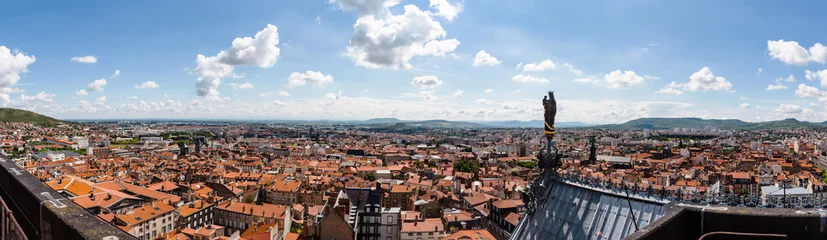
[[[136,120],[136,119],[122,119]],[[187,119],[180,119],[187,120]],[[84,120],[87,121],[87,120]],[[94,121],[94,120],[88,120]],[[116,120],[104,120],[116,121]],[[173,119],[140,119],[139,121],[176,121]],[[209,121],[209,120],[205,120]],[[221,120],[215,120],[221,121]],[[232,120],[244,121],[244,120]],[[542,120],[505,120],[505,121],[450,121],[433,120],[400,120],[397,118],[372,118],[367,120],[249,120],[251,122],[276,122],[285,124],[338,124],[338,125],[365,125],[367,127],[423,127],[423,128],[541,128]],[[66,120],[57,120],[35,112],[0,108],[0,122],[32,122],[39,125],[55,125]],[[588,128],[588,129],[673,129],[673,128],[718,128],[739,130],[761,129],[816,129],[827,128],[827,121],[807,122],[795,118],[787,118],[766,122],[746,122],[738,119],[702,119],[702,118],[639,118],[619,124],[587,124],[582,122],[557,122],[557,128]]]

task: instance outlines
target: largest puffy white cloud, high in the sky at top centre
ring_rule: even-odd
[[[355,9],[360,17],[346,55],[366,68],[411,68],[414,56],[445,56],[453,53],[460,42],[445,39],[447,32],[429,11],[406,5],[405,12],[393,15],[388,8],[398,4],[390,0],[332,0],[344,10]]]

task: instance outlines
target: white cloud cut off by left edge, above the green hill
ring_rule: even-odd
[[[0,46],[0,99],[3,102],[8,103],[9,94],[19,91],[14,86],[20,81],[20,74],[29,72],[28,67],[35,60],[34,56]]]

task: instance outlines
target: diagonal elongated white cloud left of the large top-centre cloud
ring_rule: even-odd
[[[215,56],[198,54],[195,60],[198,67],[193,70],[199,75],[195,82],[198,96],[220,99],[218,86],[221,85],[221,79],[232,74],[236,66],[272,67],[280,54],[278,44],[278,28],[267,24],[267,27],[252,38],[234,39],[232,47],[218,52]]]

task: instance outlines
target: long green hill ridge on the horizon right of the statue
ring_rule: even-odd
[[[764,130],[764,129],[816,129],[827,128],[824,123],[802,122],[794,118],[769,122],[744,122],[737,119],[701,118],[640,118],[621,124],[599,125],[590,128],[606,129],[672,129],[704,128]]]

